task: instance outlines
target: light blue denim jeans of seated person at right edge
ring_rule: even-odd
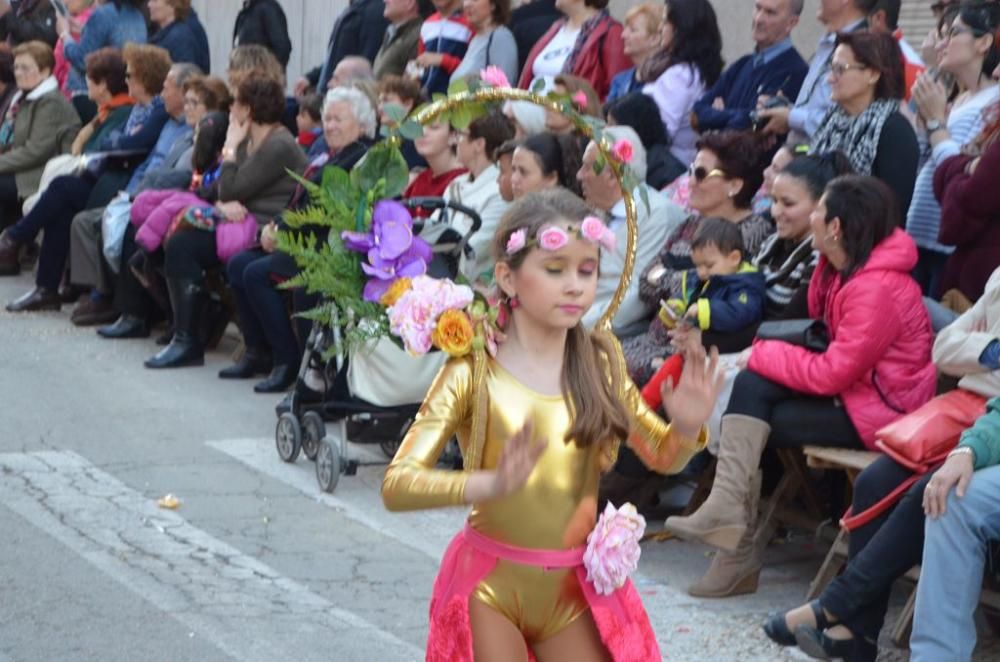
[[[910,638],[912,662],[968,660],[972,615],[983,586],[986,548],[1000,539],[1000,466],[977,471],[965,497],[952,490],[944,515],[927,520],[924,561]]]

